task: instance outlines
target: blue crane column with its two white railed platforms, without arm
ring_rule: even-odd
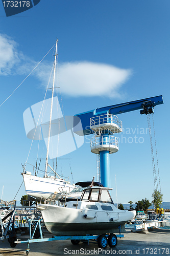
[[[110,187],[110,154],[118,151],[118,140],[114,133],[122,132],[122,122],[114,115],[106,114],[91,118],[90,128],[94,131],[91,152],[100,155],[101,183]]]

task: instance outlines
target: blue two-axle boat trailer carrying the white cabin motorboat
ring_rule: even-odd
[[[107,245],[110,247],[115,247],[117,245],[117,238],[123,238],[124,234],[87,234],[86,236],[53,236],[52,238],[43,238],[43,232],[41,229],[41,220],[28,220],[30,238],[25,241],[17,239],[14,241],[14,244],[27,243],[26,255],[29,254],[29,244],[37,242],[48,242],[48,241],[57,241],[57,240],[70,240],[72,244],[77,245],[79,242],[87,243],[89,245],[90,240],[95,240],[98,243],[99,248],[105,249]],[[34,228],[33,228],[34,226]],[[38,230],[39,228],[39,230]],[[40,237],[40,238],[38,238]],[[35,239],[33,239],[35,238]]]

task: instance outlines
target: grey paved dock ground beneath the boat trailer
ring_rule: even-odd
[[[50,256],[50,255],[144,255],[170,254],[170,230],[152,229],[148,233],[136,233],[131,228],[126,229],[124,238],[118,239],[117,246],[106,249],[100,249],[95,241],[90,244],[80,242],[78,245],[72,245],[69,240],[50,241],[30,243],[29,256]],[[51,238],[52,234],[45,232],[44,238]],[[22,236],[21,240],[27,240],[28,237]],[[0,241],[0,254],[2,256],[26,255],[27,243],[17,244],[11,248],[8,240]]]

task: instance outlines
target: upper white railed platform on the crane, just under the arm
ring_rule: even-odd
[[[122,121],[119,121],[117,116],[115,115],[111,115],[111,114],[105,114],[105,115],[101,115],[101,116],[96,116],[96,117],[92,117],[90,118],[90,128],[93,129],[94,126],[103,126],[103,125],[113,125],[113,126],[117,126],[119,130],[122,131]]]

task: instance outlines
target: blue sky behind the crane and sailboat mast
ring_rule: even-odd
[[[0,3],[0,105],[52,48],[56,37],[64,115],[163,95],[164,104],[156,106],[154,122],[161,191],[163,201],[169,201],[169,9],[168,0],[41,0],[26,12],[6,17]],[[52,54],[53,50],[0,108],[0,195],[4,185],[6,201],[14,198],[22,182],[20,163],[26,161],[31,145],[22,115],[43,100]],[[64,76],[68,67],[71,73]],[[116,202],[116,175],[118,202],[145,197],[151,201],[154,181],[147,117],[134,111],[118,118],[125,130],[117,136],[118,153],[110,156],[113,200]],[[143,139],[135,143],[134,136]],[[35,152],[33,148],[28,162],[35,164]],[[96,177],[96,157],[90,152],[89,137],[58,162],[58,172],[62,169],[69,176],[70,164],[74,182]],[[22,195],[23,185],[16,199]]]

